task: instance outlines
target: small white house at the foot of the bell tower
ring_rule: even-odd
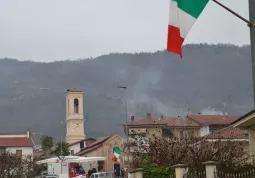
[[[92,144],[95,141],[96,141],[96,139],[94,139],[94,138],[85,138],[78,142],[69,144],[68,146],[69,146],[71,155],[75,155],[76,153],[80,152],[81,150],[83,150],[84,148],[86,148],[87,146],[89,146],[90,144]]]

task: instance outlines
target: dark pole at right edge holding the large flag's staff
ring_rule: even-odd
[[[250,40],[251,40],[251,66],[253,80],[253,99],[255,108],[255,1],[249,0],[249,16],[250,16]]]

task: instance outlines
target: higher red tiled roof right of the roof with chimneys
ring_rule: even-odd
[[[189,118],[199,122],[202,125],[228,125],[239,118],[239,116],[228,115],[188,115]]]

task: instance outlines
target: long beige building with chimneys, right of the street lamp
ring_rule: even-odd
[[[131,116],[128,124],[130,152],[143,151],[148,146],[149,138],[184,138],[199,136],[200,124],[186,117],[152,118],[147,113],[146,118],[136,120]],[[140,144],[141,143],[141,144]]]

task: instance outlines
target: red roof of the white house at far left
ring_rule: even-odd
[[[32,147],[33,141],[27,137],[0,138],[0,147]]]

